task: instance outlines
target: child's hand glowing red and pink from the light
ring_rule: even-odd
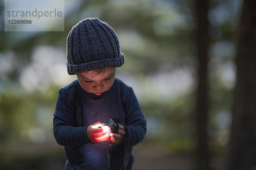
[[[98,143],[106,141],[110,138],[110,135],[105,135],[107,132],[103,130],[103,123],[96,122],[87,127],[87,135],[91,142]]]

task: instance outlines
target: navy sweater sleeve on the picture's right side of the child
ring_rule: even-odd
[[[146,120],[132,88],[124,99],[125,125],[130,133],[131,146],[141,142],[146,133]]]

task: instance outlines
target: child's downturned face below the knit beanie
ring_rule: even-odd
[[[77,74],[81,87],[85,91],[96,94],[98,96],[111,88],[114,83],[115,76],[115,67],[105,68],[105,71],[98,75],[95,75],[95,73],[91,71]]]

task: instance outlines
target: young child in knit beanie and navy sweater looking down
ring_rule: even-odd
[[[137,98],[115,77],[123,63],[119,40],[107,23],[87,18],[73,26],[67,71],[78,79],[59,89],[53,114],[53,133],[67,157],[65,170],[124,170],[126,142],[132,147],[143,140],[146,121]],[[98,128],[115,117],[123,122],[117,133]],[[131,170],[132,154],[126,161]]]

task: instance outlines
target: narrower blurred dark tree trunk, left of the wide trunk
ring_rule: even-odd
[[[208,0],[197,0],[197,45],[198,45],[198,101],[197,101],[197,127],[198,127],[198,170],[208,170]]]

